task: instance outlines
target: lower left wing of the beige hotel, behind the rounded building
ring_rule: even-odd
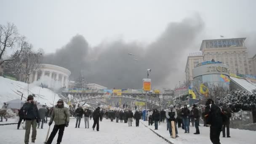
[[[186,81],[193,80],[192,69],[194,69],[197,64],[203,62],[203,55],[202,53],[189,53],[187,57],[187,64],[186,64]]]

